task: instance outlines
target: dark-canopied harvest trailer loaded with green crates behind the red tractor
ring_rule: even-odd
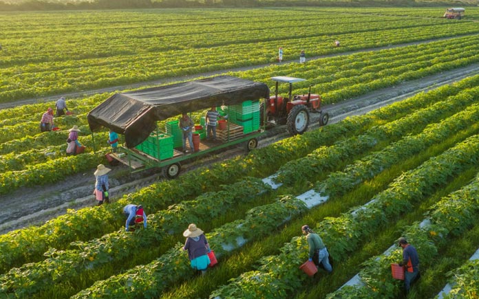
[[[124,135],[125,144],[110,156],[127,164],[132,172],[149,168],[164,169],[167,177],[180,173],[181,162],[206,155],[221,148],[244,142],[251,150],[257,137],[264,134],[260,124],[259,100],[269,98],[266,84],[231,76],[217,76],[153,87],[127,93],[116,93],[88,113],[92,132],[107,127]],[[217,125],[217,141],[206,140],[206,124],[195,126],[193,143],[198,151],[183,153],[182,132],[178,121],[159,121],[218,107],[227,119],[224,129]],[[227,115],[227,117],[226,117]],[[223,123],[224,124],[224,123]],[[195,148],[197,149],[197,148]]]

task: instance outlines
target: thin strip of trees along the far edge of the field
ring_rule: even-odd
[[[473,1],[473,0],[471,0]],[[0,0],[0,11],[96,10],[123,8],[222,8],[263,6],[449,6],[467,5],[465,1],[421,0]],[[473,4],[473,3],[471,3]]]

